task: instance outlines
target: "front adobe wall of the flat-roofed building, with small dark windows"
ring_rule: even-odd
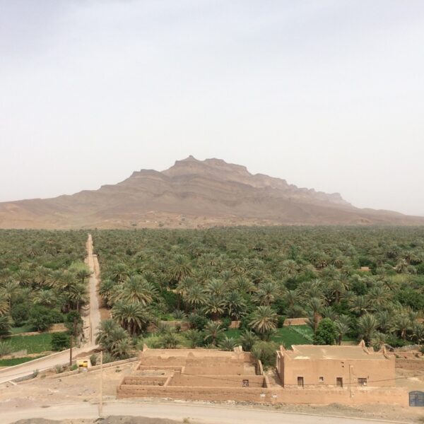
[[[394,358],[387,360],[338,360],[338,359],[292,359],[283,355],[284,372],[280,374],[284,387],[297,386],[298,377],[303,377],[305,386],[311,384],[334,385],[336,378],[343,378],[343,385],[358,384],[358,378],[366,378],[367,385],[391,387],[394,385]],[[349,367],[351,372],[349,375]],[[324,382],[319,382],[324,377]]]

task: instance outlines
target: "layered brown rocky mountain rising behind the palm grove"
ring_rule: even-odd
[[[114,185],[53,199],[0,203],[0,228],[205,228],[213,225],[423,225],[424,218],[355,208],[340,194],[252,175],[220,159],[177,160]]]

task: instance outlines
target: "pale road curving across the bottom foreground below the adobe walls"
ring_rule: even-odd
[[[182,422],[189,418],[196,423],[207,424],[370,424],[387,421],[365,420],[343,417],[308,416],[279,411],[260,411],[249,408],[225,408],[222,406],[193,406],[162,403],[115,402],[103,406],[103,416],[141,416],[149,418],[168,418]],[[1,413],[1,423],[28,418],[76,419],[98,418],[98,406],[92,404],[73,404],[51,406],[49,408],[21,409]]]

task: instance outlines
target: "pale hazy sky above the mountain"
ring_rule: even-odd
[[[189,154],[424,215],[424,1],[0,0],[0,201]]]

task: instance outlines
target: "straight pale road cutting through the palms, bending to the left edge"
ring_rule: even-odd
[[[93,350],[95,345],[95,334],[100,324],[100,312],[99,312],[99,303],[97,297],[97,289],[98,289],[98,275],[99,275],[99,267],[98,267],[98,259],[97,257],[93,257],[93,240],[91,235],[88,235],[87,240],[87,264],[90,267],[90,271],[92,272],[90,276],[89,291],[90,291],[90,310],[88,315],[88,326],[91,328],[91,331],[88,331],[88,343],[81,346],[81,348],[74,348],[72,351],[72,357],[75,358],[77,355],[81,353],[86,353]],[[5,370],[0,370],[0,384],[4,382],[8,382],[11,379],[16,379],[19,377],[25,377],[26,375],[33,374],[34,370],[48,370],[49,368],[53,368],[56,365],[63,365],[69,363],[69,350],[62,351],[59,353],[53,353],[52,355],[45,356],[44,358],[40,358],[37,360],[32,360],[28,363],[24,363],[21,365],[16,365],[14,367],[8,367]]]

